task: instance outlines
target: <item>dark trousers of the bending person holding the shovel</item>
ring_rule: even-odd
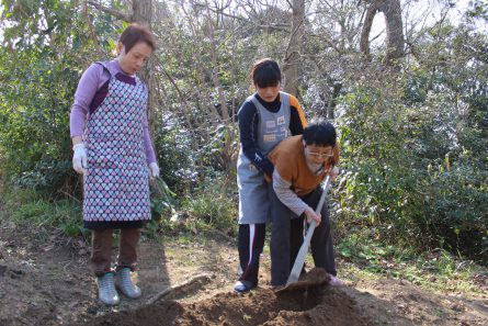
[[[293,213],[276,196],[273,186],[269,189],[271,209],[271,285],[283,285],[286,283],[296,255],[304,240],[305,214],[292,218]],[[322,193],[317,189],[302,200],[314,210]],[[329,211],[325,203],[321,211],[321,223],[315,228],[311,236],[310,247],[315,267],[324,268],[332,276],[337,274],[333,257],[333,241],[330,233]]]

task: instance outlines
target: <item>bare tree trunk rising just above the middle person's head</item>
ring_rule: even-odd
[[[305,33],[305,1],[293,0],[292,11],[292,35],[285,53],[283,75],[285,77],[284,90],[297,95],[300,76],[300,54]]]

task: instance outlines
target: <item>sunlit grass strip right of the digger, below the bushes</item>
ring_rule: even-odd
[[[428,290],[487,295],[488,269],[443,249],[417,252],[355,234],[338,243],[336,252],[340,277],[351,281],[388,277]]]

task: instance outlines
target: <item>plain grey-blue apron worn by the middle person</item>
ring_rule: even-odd
[[[290,136],[290,98],[284,92],[280,92],[280,98],[281,108],[276,113],[268,111],[256,98],[256,94],[247,99],[252,101],[259,114],[257,143],[264,155]],[[239,189],[239,224],[270,222],[268,183],[263,172],[258,170],[246,157],[242,146],[237,160],[237,187]]]

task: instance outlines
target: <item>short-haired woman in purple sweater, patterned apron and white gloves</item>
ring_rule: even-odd
[[[147,27],[129,25],[118,40],[117,57],[84,71],[71,108],[72,166],[83,175],[83,223],[92,232],[90,262],[99,299],[109,305],[120,302],[115,285],[129,299],[140,296],[130,272],[140,227],[150,220],[149,177],[158,177],[159,167],[149,137],[148,90],[135,74],[155,47]],[[114,229],[121,232],[112,270]]]

